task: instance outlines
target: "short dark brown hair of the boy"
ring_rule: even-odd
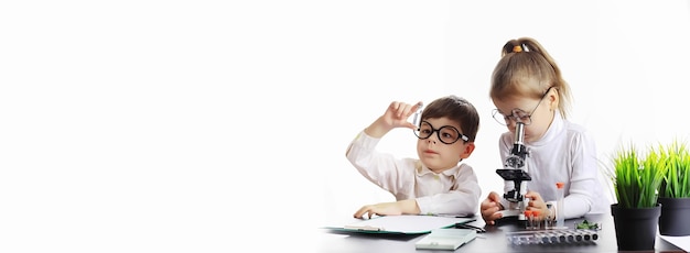
[[[450,95],[433,100],[422,111],[422,120],[448,118],[460,124],[460,132],[474,142],[479,130],[479,114],[474,106],[464,98]]]

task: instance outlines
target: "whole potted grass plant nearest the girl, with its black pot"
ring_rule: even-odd
[[[611,205],[621,251],[654,250],[660,205],[657,190],[664,179],[664,160],[650,151],[644,158],[629,145],[612,156],[613,180],[617,204]]]

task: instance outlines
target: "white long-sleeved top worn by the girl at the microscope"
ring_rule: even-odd
[[[510,132],[502,134],[498,146],[502,161],[510,155],[514,138]],[[531,180],[522,182],[522,195],[533,190],[545,201],[556,201],[556,183],[563,182],[565,219],[606,213],[611,204],[600,183],[594,140],[583,127],[563,120],[557,110],[545,135],[533,143],[525,143],[525,146],[529,151],[525,170]],[[513,186],[513,182],[506,182],[504,190],[507,193],[514,189]],[[502,204],[507,207],[505,199]]]

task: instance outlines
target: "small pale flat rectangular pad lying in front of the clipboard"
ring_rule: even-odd
[[[476,237],[477,232],[473,229],[434,229],[417,241],[414,248],[454,251]]]

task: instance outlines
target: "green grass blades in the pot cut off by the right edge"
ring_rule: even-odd
[[[684,142],[675,140],[660,146],[666,157],[666,174],[659,188],[659,197],[690,198],[690,151]]]

